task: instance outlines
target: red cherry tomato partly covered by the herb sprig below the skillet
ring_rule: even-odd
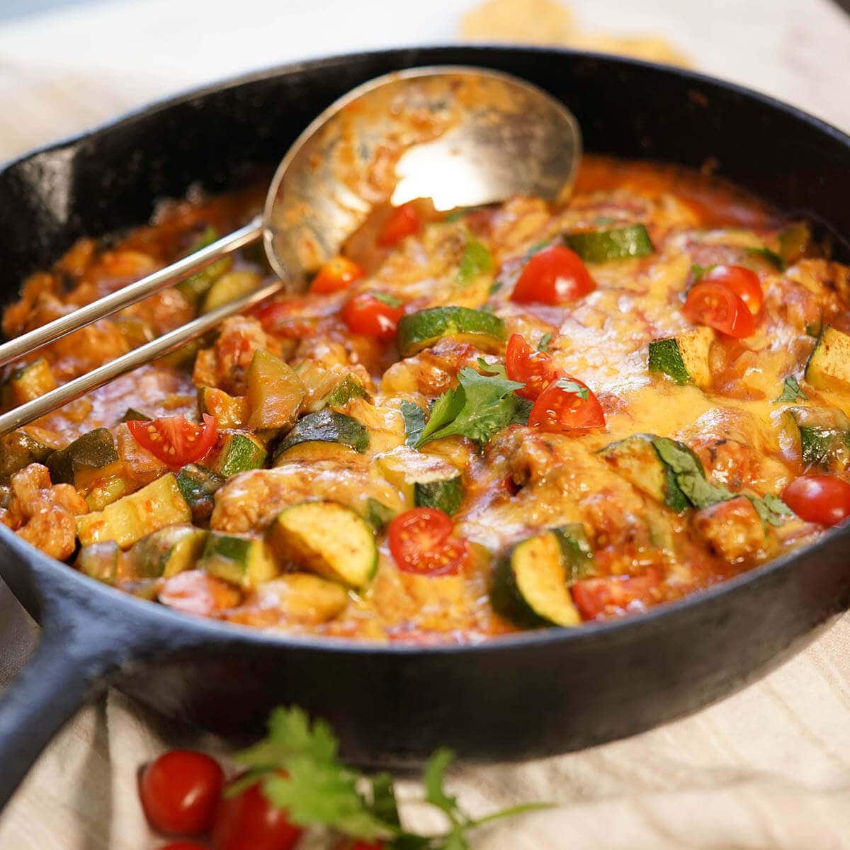
[[[292,850],[303,830],[273,806],[259,783],[222,797],[212,824],[213,850]]]

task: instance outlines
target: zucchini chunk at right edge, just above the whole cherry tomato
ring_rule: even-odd
[[[803,467],[845,472],[850,467],[850,417],[835,407],[786,407],[782,426]]]

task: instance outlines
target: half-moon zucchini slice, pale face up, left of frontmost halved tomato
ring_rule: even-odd
[[[335,501],[303,501],[282,510],[268,531],[283,563],[364,587],[375,575],[377,547],[365,519]]]

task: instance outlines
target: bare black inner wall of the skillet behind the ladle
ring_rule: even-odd
[[[836,257],[850,258],[841,236],[850,234],[850,178],[837,130],[813,140],[793,116],[676,69],[564,52],[553,71],[549,52],[416,48],[212,86],[7,167],[0,173],[0,303],[82,235],[141,224],[156,200],[184,195],[192,184],[221,191],[252,168],[274,167],[322,108],[360,82],[401,65],[452,63],[490,66],[546,88],[575,112],[587,150],[697,168],[714,162],[717,173],[780,210],[822,224]],[[324,67],[320,77],[309,73],[315,65]]]

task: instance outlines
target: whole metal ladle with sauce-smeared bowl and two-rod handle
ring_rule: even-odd
[[[0,365],[173,286],[263,239],[280,280],[236,298],[0,416],[0,433],[77,399],[264,298],[306,286],[376,203],[431,198],[438,210],[511,195],[564,200],[581,157],[570,111],[528,82],[433,66],[365,82],[310,123],[280,161],[262,216],[189,257],[0,345]]]

